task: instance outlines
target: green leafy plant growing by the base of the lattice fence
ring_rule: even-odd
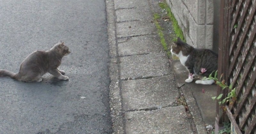
[[[215,72],[214,77],[212,77],[213,72]],[[229,102],[229,105],[233,105],[233,103],[236,101],[236,88],[233,88],[232,84],[230,84],[228,86],[227,83],[225,83],[225,80],[219,81],[217,78],[218,71],[213,71],[213,72],[209,75],[208,78],[204,77],[203,79],[214,80],[216,82],[216,84],[222,88],[222,90],[228,89],[228,94],[227,94],[227,97],[222,100],[221,100],[221,98],[222,98],[223,94],[220,94],[218,97],[216,97],[216,96],[212,97],[212,99],[220,100],[219,105],[228,103],[228,102]],[[222,76],[223,76],[223,74],[220,76],[220,80],[221,80]]]

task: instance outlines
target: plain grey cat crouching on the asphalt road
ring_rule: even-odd
[[[28,55],[20,65],[19,73],[15,74],[11,71],[0,69],[0,76],[10,76],[11,78],[23,82],[41,82],[42,76],[47,72],[53,76],[68,80],[68,76],[64,76],[64,71],[59,70],[61,59],[70,53],[64,42],[59,41],[50,50],[37,50]]]

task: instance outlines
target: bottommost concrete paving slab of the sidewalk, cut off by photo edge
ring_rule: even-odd
[[[191,134],[184,106],[167,107],[152,111],[127,112],[127,134]]]

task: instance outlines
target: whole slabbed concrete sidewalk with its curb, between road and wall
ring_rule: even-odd
[[[153,23],[158,1],[107,0],[106,6],[113,133],[206,133],[193,93],[192,115],[176,103],[187,86],[175,80],[180,70],[171,67],[179,63],[169,62]]]

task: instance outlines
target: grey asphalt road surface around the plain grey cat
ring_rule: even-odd
[[[0,77],[0,133],[111,133],[104,0],[0,0],[0,69],[18,73],[35,50],[59,40],[68,81]]]

